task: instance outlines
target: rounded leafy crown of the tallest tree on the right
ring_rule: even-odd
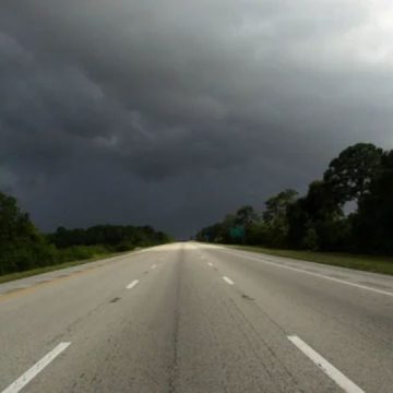
[[[345,148],[330,163],[323,179],[337,203],[359,202],[369,192],[378,176],[382,153],[382,148],[371,143],[358,143]]]

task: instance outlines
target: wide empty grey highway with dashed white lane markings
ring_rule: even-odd
[[[393,392],[393,277],[182,242],[0,285],[0,393]]]

